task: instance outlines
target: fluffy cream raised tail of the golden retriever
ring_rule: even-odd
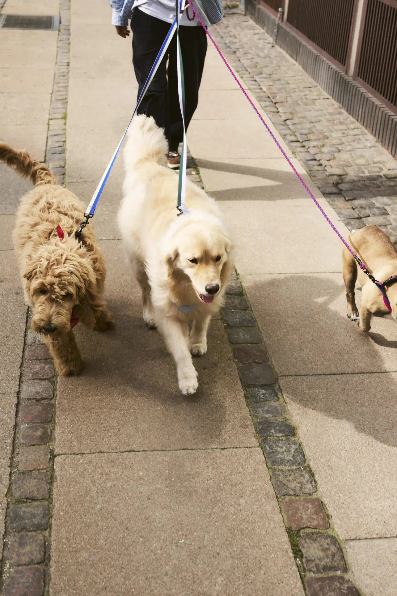
[[[164,131],[159,128],[152,117],[144,114],[134,116],[128,129],[128,140],[124,149],[124,163],[127,171],[155,162],[160,166],[167,165],[168,142]]]

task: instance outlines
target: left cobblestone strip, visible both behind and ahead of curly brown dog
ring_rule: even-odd
[[[70,4],[61,0],[61,29],[48,124],[46,162],[64,183]],[[27,320],[7,492],[2,596],[49,591],[56,378],[52,359]]]

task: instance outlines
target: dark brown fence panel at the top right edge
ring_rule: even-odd
[[[396,0],[368,0],[356,76],[397,107]]]

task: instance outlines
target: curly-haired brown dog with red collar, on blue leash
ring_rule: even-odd
[[[91,224],[84,229],[80,246],[75,232],[84,206],[56,184],[45,164],[4,143],[0,162],[29,176],[36,187],[22,198],[13,233],[26,302],[33,309],[32,329],[44,334],[59,374],[79,374],[83,362],[72,327],[78,320],[98,331],[113,327],[94,230]]]

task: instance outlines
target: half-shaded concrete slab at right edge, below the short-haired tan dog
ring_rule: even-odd
[[[280,382],[340,538],[397,535],[397,374]]]

